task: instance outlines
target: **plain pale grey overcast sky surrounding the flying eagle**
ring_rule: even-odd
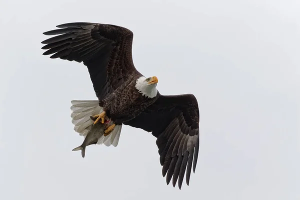
[[[1,199],[300,199],[298,0],[26,0],[0,6]],[[193,93],[195,174],[161,175],[155,137],[123,126],[117,147],[83,141],[72,99],[96,99],[82,63],[42,55],[65,22],[134,33],[133,61],[162,94]]]

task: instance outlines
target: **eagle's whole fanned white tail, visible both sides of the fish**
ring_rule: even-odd
[[[74,130],[79,135],[86,136],[93,121],[89,116],[99,114],[103,111],[103,108],[99,106],[98,100],[72,100],[71,101],[71,118],[74,124]],[[120,137],[122,125],[116,125],[112,132],[104,136],[102,135],[97,144],[105,144],[106,146],[117,146]]]

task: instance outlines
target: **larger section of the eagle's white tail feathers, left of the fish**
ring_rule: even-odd
[[[99,106],[98,100],[72,100],[71,104],[74,130],[85,137],[93,123],[90,116],[101,113],[103,108]]]

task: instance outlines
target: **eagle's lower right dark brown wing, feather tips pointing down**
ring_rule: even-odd
[[[160,95],[147,109],[124,124],[152,131],[166,183],[172,179],[181,188],[186,170],[189,183],[191,166],[196,168],[199,150],[199,110],[192,94]]]

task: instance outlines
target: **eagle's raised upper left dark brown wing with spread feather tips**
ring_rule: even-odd
[[[106,97],[130,76],[139,72],[132,61],[133,33],[124,27],[73,22],[57,25],[60,29],[44,32],[55,35],[41,43],[43,54],[50,58],[83,61],[87,66],[94,91],[99,100]]]

